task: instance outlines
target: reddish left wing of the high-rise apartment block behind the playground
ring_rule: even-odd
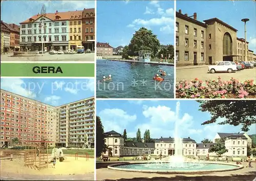
[[[1,89],[1,147],[18,138],[26,141],[56,139],[54,106]],[[51,143],[53,145],[53,143]]]

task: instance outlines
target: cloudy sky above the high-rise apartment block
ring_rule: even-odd
[[[94,79],[1,78],[1,89],[59,106],[94,96]]]

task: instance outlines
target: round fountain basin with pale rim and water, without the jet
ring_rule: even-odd
[[[175,163],[118,163],[108,166],[108,169],[130,172],[146,173],[205,173],[239,170],[244,168],[242,165],[215,163],[215,162],[184,162],[182,166]]]

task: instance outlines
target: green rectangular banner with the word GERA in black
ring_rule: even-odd
[[[1,77],[94,77],[94,63],[1,63]]]

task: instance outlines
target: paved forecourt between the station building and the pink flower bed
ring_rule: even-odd
[[[237,71],[234,73],[208,73],[208,65],[198,65],[198,66],[180,66],[176,67],[176,81],[187,80],[198,78],[199,80],[218,80],[218,77],[222,80],[230,80],[232,77],[240,81],[245,81],[248,79],[253,79],[256,83],[256,67],[253,69],[245,69],[242,71]]]

